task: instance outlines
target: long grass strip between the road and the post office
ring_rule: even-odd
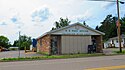
[[[44,55],[35,57],[21,57],[21,58],[2,58],[0,62],[9,61],[27,61],[27,60],[47,60],[47,59],[67,59],[67,58],[80,58],[80,57],[94,57],[94,56],[104,56],[102,53],[94,54],[72,54],[72,55]]]

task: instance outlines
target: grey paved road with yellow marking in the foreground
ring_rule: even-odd
[[[118,66],[119,69],[111,66]],[[125,67],[125,55],[0,63],[0,70],[97,70],[93,68],[100,67],[120,70],[120,68]],[[108,69],[101,68],[98,70]],[[125,68],[121,70],[125,70]]]

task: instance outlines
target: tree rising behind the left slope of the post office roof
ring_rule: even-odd
[[[71,21],[69,21],[68,18],[66,18],[66,19],[60,18],[59,21],[55,22],[55,27],[53,27],[52,30],[68,26],[70,24],[70,22]]]

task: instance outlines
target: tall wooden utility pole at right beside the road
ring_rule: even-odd
[[[119,14],[119,0],[116,1],[117,2],[117,14],[118,14],[118,20],[117,20],[117,23],[118,23],[118,28],[117,28],[117,35],[118,35],[118,41],[119,41],[119,50],[120,52],[122,52],[122,47],[121,47],[121,35],[120,35],[120,14]]]

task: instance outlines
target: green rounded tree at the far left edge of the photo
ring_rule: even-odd
[[[9,48],[9,46],[11,46],[9,39],[5,36],[0,36],[0,46]]]

